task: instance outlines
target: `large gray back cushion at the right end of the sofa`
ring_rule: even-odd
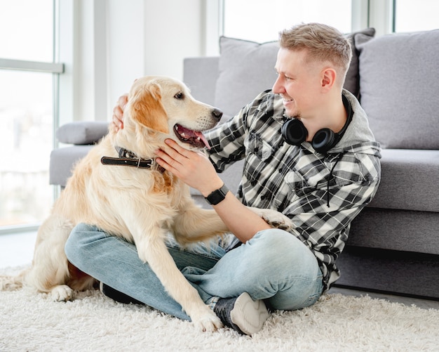
[[[360,46],[361,105],[383,148],[439,149],[439,30]]]

